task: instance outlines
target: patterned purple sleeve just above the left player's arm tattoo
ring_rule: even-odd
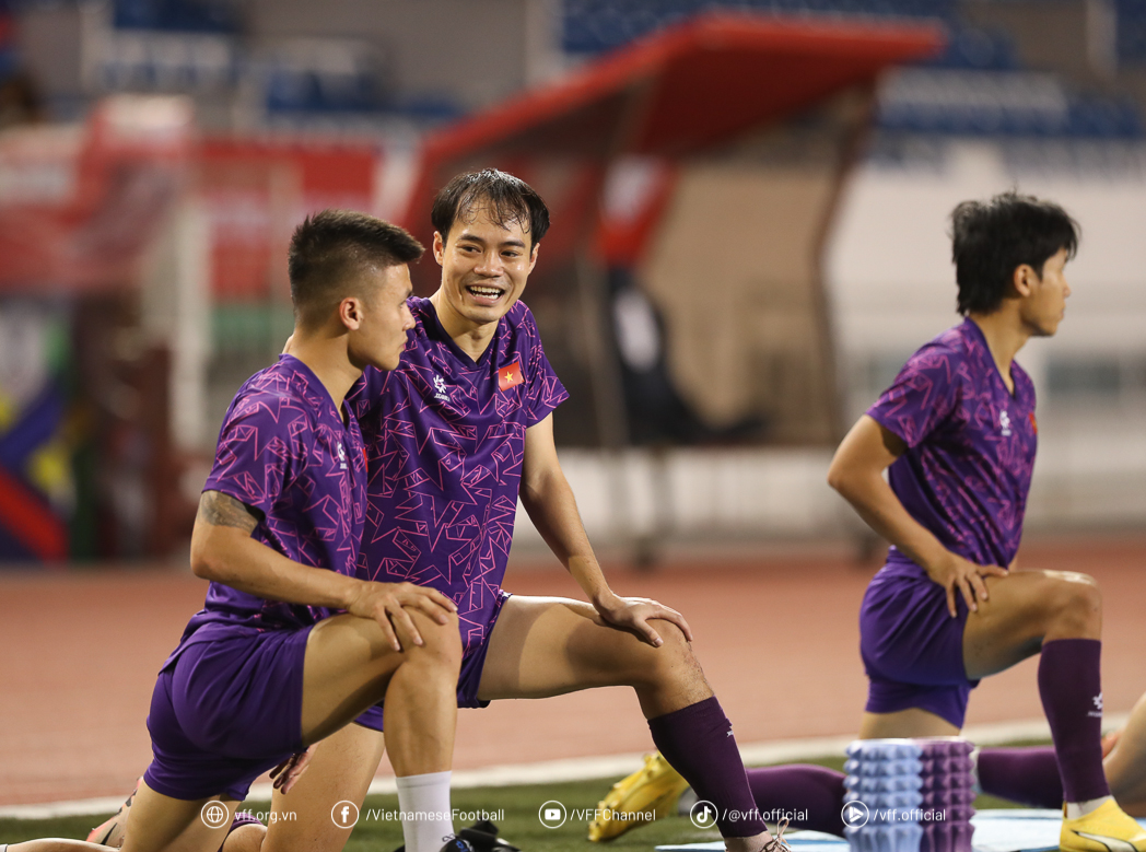
[[[236,400],[219,432],[204,491],[219,491],[266,517],[306,464],[307,415],[275,394]]]

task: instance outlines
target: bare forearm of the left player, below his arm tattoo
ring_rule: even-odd
[[[191,570],[240,592],[309,607],[346,609],[360,584],[352,577],[304,565],[229,526],[196,524]]]

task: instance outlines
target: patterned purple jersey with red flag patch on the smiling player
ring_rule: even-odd
[[[367,444],[361,576],[432,586],[458,608],[462,644],[485,639],[505,573],[525,430],[568,394],[518,302],[474,362],[411,298],[398,369],[367,368],[346,399]]]

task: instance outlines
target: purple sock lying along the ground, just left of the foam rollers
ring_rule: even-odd
[[[843,836],[843,777],[841,772],[809,764],[748,769],[752,797],[766,820],[779,822],[786,818],[792,828],[839,837]],[[769,812],[779,819],[772,819]]]

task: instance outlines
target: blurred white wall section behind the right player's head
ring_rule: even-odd
[[[1058,169],[1036,167],[1055,153]],[[1020,362],[1038,382],[1052,352],[1146,353],[1146,147],[951,141],[937,158],[869,163],[843,193],[826,257],[841,362],[910,353],[959,321],[948,217],[1011,188],[1060,203],[1083,229],[1067,319]]]

